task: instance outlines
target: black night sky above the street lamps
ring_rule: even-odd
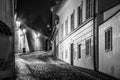
[[[50,7],[55,5],[55,0],[18,0],[18,17],[34,30],[41,31],[49,36],[52,27]]]

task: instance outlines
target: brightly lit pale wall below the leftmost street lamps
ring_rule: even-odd
[[[26,32],[27,32],[27,29],[26,27],[24,27],[22,23],[19,26],[16,25],[15,27],[15,53],[29,52]]]

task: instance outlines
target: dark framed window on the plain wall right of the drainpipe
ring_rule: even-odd
[[[105,31],[105,51],[112,50],[112,28]]]

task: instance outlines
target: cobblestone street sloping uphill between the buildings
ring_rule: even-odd
[[[39,55],[39,56],[38,56]],[[30,54],[16,56],[17,80],[94,80],[67,63],[51,55]]]

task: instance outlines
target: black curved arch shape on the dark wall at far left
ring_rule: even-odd
[[[12,36],[12,32],[7,24],[0,20],[0,34]]]

